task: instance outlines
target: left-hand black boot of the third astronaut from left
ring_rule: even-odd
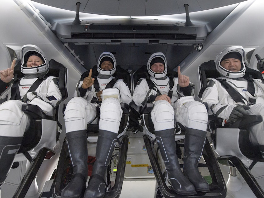
[[[155,131],[156,140],[164,161],[167,178],[172,185],[172,190],[180,195],[194,195],[195,191],[192,183],[183,175],[176,154],[176,142],[173,129]]]

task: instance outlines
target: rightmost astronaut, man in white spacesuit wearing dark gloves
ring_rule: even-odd
[[[236,121],[244,115],[261,115],[263,121],[250,127],[250,138],[258,145],[264,157],[264,84],[260,79],[245,79],[245,50],[242,46],[224,49],[216,57],[216,69],[221,77],[207,79],[207,88],[203,92],[202,102],[207,102],[208,114],[216,115],[225,122]],[[257,65],[263,71],[263,59]],[[234,101],[221,85],[225,81],[241,95],[241,101]],[[249,88],[252,85],[252,88]],[[250,92],[252,90],[252,93]],[[235,92],[235,91],[234,91]]]

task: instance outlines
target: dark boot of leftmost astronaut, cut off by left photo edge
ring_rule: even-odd
[[[0,136],[0,186],[9,173],[23,137]]]

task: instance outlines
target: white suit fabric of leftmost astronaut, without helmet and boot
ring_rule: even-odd
[[[62,99],[61,92],[57,83],[54,83],[53,79],[57,81],[56,77],[47,77],[41,84],[34,90],[37,93],[37,97],[27,101],[28,104],[39,106],[47,115],[52,115],[53,107],[57,105]],[[19,81],[20,97],[23,98],[27,91],[37,78],[24,79]],[[22,136],[29,126],[29,117],[21,110],[22,104],[25,104],[21,100],[10,100],[11,87],[14,84],[11,83],[7,89],[5,89],[1,95],[0,105],[0,136]],[[35,95],[34,95],[35,96]],[[48,98],[53,98],[51,101]]]

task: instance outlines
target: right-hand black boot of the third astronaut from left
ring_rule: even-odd
[[[183,173],[192,182],[197,191],[210,192],[209,184],[198,170],[198,161],[202,156],[206,131],[186,128],[184,140]]]

